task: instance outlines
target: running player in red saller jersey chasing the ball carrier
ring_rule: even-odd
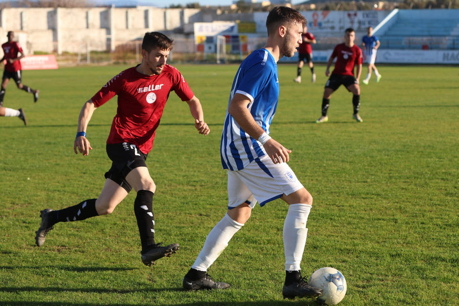
[[[47,232],[53,229],[54,224],[110,214],[134,189],[137,192],[134,212],[142,245],[142,262],[150,266],[179,249],[177,243],[162,246],[155,242],[152,202],[156,185],[145,160],[171,91],[188,104],[199,134],[208,135],[210,130],[204,121],[199,99],[180,71],[166,64],[172,44],[173,40],[164,34],[146,33],[142,42],[142,63],[120,72],[84,104],[73,150],[75,154],[80,152],[86,156],[92,149],[86,138],[86,129],[93,112],[118,95],[118,109],[107,139],[107,154],[112,160],[112,167],[105,173],[107,180],[97,199],[87,199],[58,211],[41,211],[41,225],[35,237],[38,246],[43,245]]]

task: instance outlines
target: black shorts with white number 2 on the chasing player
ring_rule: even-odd
[[[112,161],[112,167],[105,173],[105,178],[110,179],[124,188],[127,193],[132,186],[127,183],[126,175],[137,167],[146,167],[145,160],[148,154],[144,154],[137,146],[129,142],[107,143],[107,155]]]

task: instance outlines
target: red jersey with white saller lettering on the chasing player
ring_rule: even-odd
[[[113,77],[91,98],[99,107],[118,95],[107,143],[133,143],[148,154],[172,90],[183,101],[194,96],[180,71],[167,64],[159,75],[146,75],[131,67]]]

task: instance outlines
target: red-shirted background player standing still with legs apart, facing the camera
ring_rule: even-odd
[[[338,89],[341,85],[344,85],[348,91],[352,92],[352,105],[354,113],[352,117],[357,122],[362,122],[362,118],[359,115],[360,108],[360,86],[359,79],[362,73],[362,50],[354,44],[355,31],[352,28],[348,28],[344,34],[344,43],[335,46],[333,53],[327,62],[327,69],[325,75],[330,77],[325,84],[325,90],[323,91],[322,99],[322,116],[316,120],[316,123],[327,122],[327,110],[330,104],[331,94]],[[336,58],[335,69],[330,75],[330,66]],[[354,77],[354,66],[356,67],[356,73]]]

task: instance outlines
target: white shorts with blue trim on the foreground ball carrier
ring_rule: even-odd
[[[289,195],[303,185],[287,163],[274,164],[264,155],[248,164],[244,169],[228,171],[228,209],[247,203],[254,208]]]

